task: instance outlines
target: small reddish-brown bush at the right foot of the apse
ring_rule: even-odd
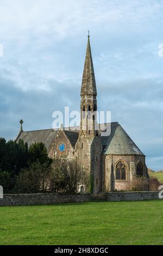
[[[131,181],[131,190],[133,191],[148,191],[149,190],[149,179],[146,176],[133,177]]]

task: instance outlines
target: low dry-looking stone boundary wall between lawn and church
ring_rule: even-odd
[[[4,194],[0,199],[0,206],[19,206],[19,205],[48,205],[59,203],[80,203],[90,202],[91,200],[105,201],[137,201],[159,199],[159,192],[108,192],[108,193],[44,193],[44,194]],[[161,199],[160,199],[161,200]],[[163,200],[162,200],[163,202]]]

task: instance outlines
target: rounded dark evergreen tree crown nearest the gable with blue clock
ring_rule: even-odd
[[[42,142],[35,142],[32,145],[30,145],[28,150],[28,156],[30,162],[36,162],[39,161],[40,163],[45,162],[51,162],[51,160],[48,157],[47,149],[45,147],[45,144]]]

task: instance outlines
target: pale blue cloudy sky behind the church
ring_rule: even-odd
[[[0,0],[0,137],[80,109],[90,30],[98,110],[163,169],[163,0]]]

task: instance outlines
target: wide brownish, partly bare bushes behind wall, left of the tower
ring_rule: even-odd
[[[17,176],[15,192],[66,192],[78,191],[79,185],[88,187],[89,175],[74,161],[55,158],[51,164],[39,161],[30,163]]]

